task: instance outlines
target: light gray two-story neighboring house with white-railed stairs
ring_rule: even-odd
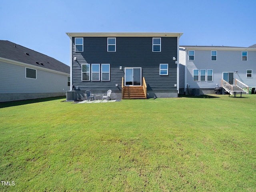
[[[224,87],[226,82],[233,87],[240,84],[244,90],[244,85],[256,86],[256,48],[253,46],[180,46],[179,54],[180,64],[185,67],[181,92],[214,93],[214,88]]]

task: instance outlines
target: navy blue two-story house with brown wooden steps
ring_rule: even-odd
[[[183,33],[66,33],[70,37],[70,91],[111,98],[178,96],[179,38]]]

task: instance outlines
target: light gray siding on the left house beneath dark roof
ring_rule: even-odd
[[[29,67],[35,69],[33,67]],[[26,67],[0,62],[0,94],[60,93],[70,90],[67,76],[36,69],[36,79],[26,78]]]

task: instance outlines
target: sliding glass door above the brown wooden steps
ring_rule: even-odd
[[[141,86],[141,68],[124,68],[125,86]]]

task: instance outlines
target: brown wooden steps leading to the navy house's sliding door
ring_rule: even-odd
[[[146,99],[143,86],[124,86],[122,99]]]

